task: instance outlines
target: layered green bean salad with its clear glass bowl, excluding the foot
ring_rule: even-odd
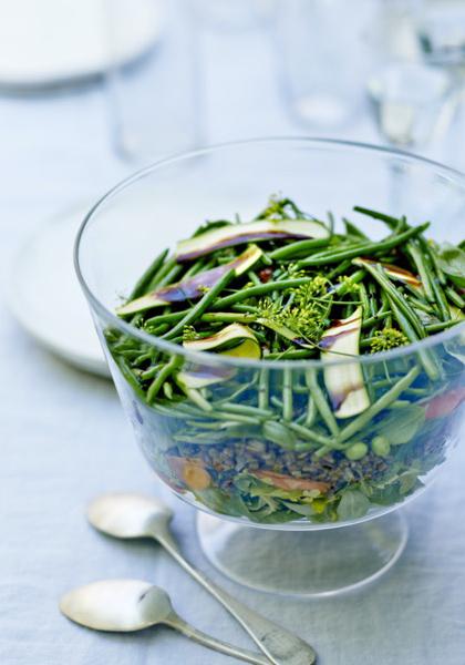
[[[99,202],[78,272],[158,477],[275,529],[418,493],[464,413],[464,211],[451,170],[297,139],[172,158]]]

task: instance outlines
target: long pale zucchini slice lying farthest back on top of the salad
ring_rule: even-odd
[[[175,257],[180,263],[209,254],[221,247],[230,247],[231,245],[240,245],[252,241],[327,238],[329,235],[329,229],[317,219],[260,219],[213,228],[194,238],[180,241],[177,244]]]

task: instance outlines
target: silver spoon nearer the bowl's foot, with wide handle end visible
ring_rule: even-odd
[[[312,665],[313,648],[297,635],[250,610],[195,569],[179,551],[169,530],[173,511],[162,501],[141,494],[105,494],[87,510],[95,529],[114,538],[153,538],[202,584],[247,631],[275,665]]]

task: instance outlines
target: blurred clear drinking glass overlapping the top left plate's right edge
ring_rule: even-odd
[[[113,149],[147,164],[203,143],[204,110],[197,30],[189,0],[134,0],[132,22],[120,3],[104,0],[105,71]],[[127,33],[143,32],[143,55],[117,58]]]

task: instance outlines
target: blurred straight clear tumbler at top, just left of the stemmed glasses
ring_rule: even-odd
[[[283,100],[293,120],[314,129],[356,122],[373,3],[276,0],[271,34]],[[343,25],[343,28],[341,28]]]

